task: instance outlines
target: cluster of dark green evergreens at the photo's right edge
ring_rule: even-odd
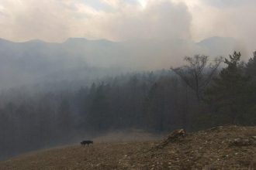
[[[234,53],[205,92],[212,124],[256,124],[256,52],[247,63]]]

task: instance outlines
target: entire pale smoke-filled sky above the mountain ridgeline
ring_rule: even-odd
[[[192,39],[255,43],[253,0],[2,0],[0,37],[12,41]]]

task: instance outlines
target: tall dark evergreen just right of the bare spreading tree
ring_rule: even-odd
[[[234,52],[225,59],[226,68],[213,80],[212,87],[206,91],[206,101],[219,113],[223,123],[242,124],[248,101],[248,76],[244,74],[244,64],[240,53]],[[219,118],[220,118],[219,117]],[[218,122],[222,122],[220,119]]]

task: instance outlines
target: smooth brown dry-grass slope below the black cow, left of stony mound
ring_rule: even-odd
[[[1,162],[0,169],[115,169],[126,155],[151,145],[150,142],[100,143],[89,147],[54,148]]]

